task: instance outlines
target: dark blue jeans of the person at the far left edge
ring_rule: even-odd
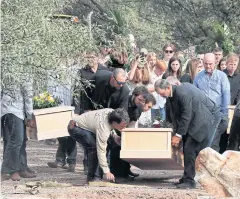
[[[3,133],[2,173],[11,174],[27,169],[26,126],[24,120],[13,114],[1,118]]]

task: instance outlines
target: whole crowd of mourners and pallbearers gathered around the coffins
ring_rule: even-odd
[[[183,63],[181,53],[169,43],[163,56],[146,49],[139,50],[128,62],[125,53],[117,58],[105,51],[104,58],[89,53],[87,65],[78,71],[81,83],[91,82],[71,100],[75,117],[69,122],[69,137],[58,138],[56,159],[51,168],[75,171],[77,145],[84,150],[84,173],[87,182],[109,181],[116,177],[139,176],[128,162],[120,159],[121,130],[137,128],[141,118],[155,123],[167,121],[173,125],[172,146],[183,142],[184,174],[176,183],[178,188],[195,188],[195,159],[205,147],[219,153],[240,147],[240,74],[239,55],[223,57],[221,48],[198,54]],[[129,65],[129,69],[124,67]],[[27,87],[27,88],[26,88]],[[30,87],[30,89],[29,89]],[[4,154],[2,174],[12,180],[36,177],[27,165],[26,125],[32,120],[31,85],[19,85],[16,98],[2,95],[1,122]],[[23,92],[23,90],[25,92]],[[235,113],[228,128],[228,106]]]

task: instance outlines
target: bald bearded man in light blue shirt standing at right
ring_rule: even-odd
[[[204,55],[205,70],[197,74],[193,84],[202,90],[221,110],[218,129],[210,143],[219,152],[221,135],[228,127],[228,105],[230,105],[230,84],[227,75],[215,68],[216,58],[213,53]]]

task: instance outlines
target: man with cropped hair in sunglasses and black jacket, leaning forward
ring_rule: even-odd
[[[99,108],[128,108],[129,89],[126,83],[126,72],[116,68],[113,72],[97,71],[94,89],[90,99],[92,109]]]

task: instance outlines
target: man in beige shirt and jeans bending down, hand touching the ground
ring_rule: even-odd
[[[107,141],[112,129],[121,131],[128,124],[128,113],[122,108],[86,112],[70,121],[68,126],[70,136],[82,144],[87,152],[87,182],[101,180],[103,173],[107,180],[115,181],[107,164]]]

